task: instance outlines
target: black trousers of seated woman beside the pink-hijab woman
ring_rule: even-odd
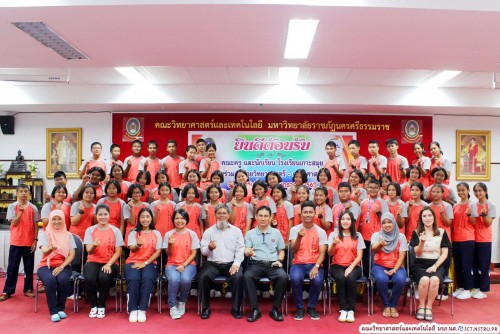
[[[106,263],[87,262],[83,266],[83,276],[85,277],[85,287],[89,297],[90,307],[106,307],[109,289],[113,284],[113,279],[118,273],[118,265],[111,266],[111,274],[102,271]],[[97,292],[99,291],[99,300]]]

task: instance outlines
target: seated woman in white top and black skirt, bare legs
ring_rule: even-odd
[[[418,320],[432,321],[432,304],[446,274],[443,263],[448,257],[450,239],[443,229],[437,227],[431,208],[424,208],[420,212],[410,246],[415,247],[416,255],[410,271],[415,282],[418,282],[419,306],[416,317]]]

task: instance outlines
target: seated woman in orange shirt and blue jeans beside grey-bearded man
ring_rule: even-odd
[[[191,281],[196,275],[196,251],[200,248],[200,240],[196,233],[186,225],[189,214],[179,209],[172,215],[175,229],[168,231],[163,239],[163,247],[167,249],[168,262],[166,276],[168,280],[168,305],[172,319],[180,319],[186,311]],[[179,303],[177,303],[179,294]]]

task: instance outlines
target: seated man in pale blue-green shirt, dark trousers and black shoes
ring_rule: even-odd
[[[269,316],[273,320],[283,321],[283,314],[279,309],[288,281],[286,272],[283,270],[285,242],[280,231],[269,226],[271,215],[271,209],[268,206],[258,208],[255,215],[258,225],[248,231],[245,236],[245,255],[250,257],[243,275],[245,291],[252,308],[247,318],[249,322],[254,322],[262,316],[257,305],[257,282],[262,276],[268,277],[274,285],[274,302]]]

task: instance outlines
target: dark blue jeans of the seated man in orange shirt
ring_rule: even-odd
[[[309,272],[314,268],[314,263],[308,264],[293,264],[290,267],[290,280],[292,281],[292,293],[297,309],[304,308],[304,300],[302,299],[302,283],[304,278],[309,277]],[[311,279],[311,289],[309,291],[308,308],[315,308],[318,302],[321,287],[323,285],[323,268],[318,269],[318,276]]]

